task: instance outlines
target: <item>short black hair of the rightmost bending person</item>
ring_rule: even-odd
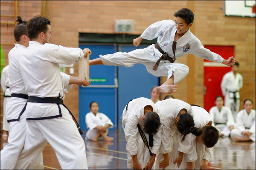
[[[201,139],[204,141],[206,147],[213,147],[219,138],[218,130],[213,126],[206,126],[202,129]]]

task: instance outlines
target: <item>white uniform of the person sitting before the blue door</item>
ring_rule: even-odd
[[[96,126],[105,126],[109,124],[111,125],[110,127],[113,127],[111,119],[109,119],[105,114],[99,112],[96,113],[96,115],[94,115],[93,112],[87,113],[85,116],[85,122],[88,128],[85,140],[93,139],[97,135],[98,130],[94,129]],[[106,129],[105,135],[108,135],[108,128]],[[102,140],[102,136],[100,136],[99,139]]]

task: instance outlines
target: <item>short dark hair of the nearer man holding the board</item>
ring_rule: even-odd
[[[28,34],[30,40],[33,40],[38,37],[38,34],[44,32],[44,34],[48,30],[48,25],[50,25],[50,21],[46,17],[41,17],[41,15],[37,15],[29,20],[28,26]]]

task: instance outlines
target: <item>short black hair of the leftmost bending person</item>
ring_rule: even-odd
[[[145,115],[145,118],[143,120],[144,124],[144,131],[148,134],[155,134],[159,130],[159,127],[161,126],[160,123],[160,117],[156,112],[148,112]]]

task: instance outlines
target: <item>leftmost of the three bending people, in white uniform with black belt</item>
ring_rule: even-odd
[[[150,170],[161,144],[163,115],[150,99],[140,97],[125,106],[122,123],[127,142],[127,167]]]

